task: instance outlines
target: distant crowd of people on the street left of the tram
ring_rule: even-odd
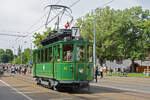
[[[8,72],[12,74],[22,74],[26,75],[28,72],[31,74],[32,66],[29,65],[17,65],[17,64],[0,64],[3,72]]]

